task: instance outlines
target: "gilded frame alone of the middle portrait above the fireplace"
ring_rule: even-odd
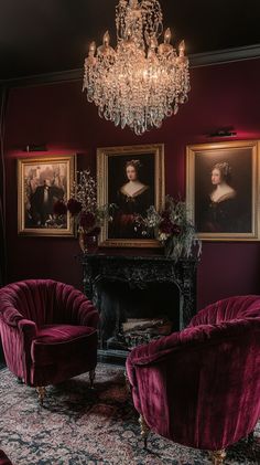
[[[154,188],[154,207],[159,210],[164,204],[165,188],[164,188],[164,145],[138,145],[138,146],[121,146],[121,147],[102,147],[97,149],[97,199],[98,204],[104,205],[110,203],[108,191],[112,182],[108,172],[108,163],[116,158],[116,162],[121,162],[129,158],[138,158],[144,160],[145,157],[151,157],[153,165],[153,188]],[[143,158],[142,158],[143,157]],[[154,239],[118,239],[108,236],[108,224],[105,224],[100,234],[100,246],[105,247],[155,247],[160,246]]]

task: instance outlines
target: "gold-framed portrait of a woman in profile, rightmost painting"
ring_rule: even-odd
[[[259,141],[187,146],[186,200],[198,236],[258,241]]]

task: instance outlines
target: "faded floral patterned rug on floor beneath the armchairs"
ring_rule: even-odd
[[[99,364],[96,389],[83,374],[47,389],[40,408],[34,389],[0,371],[0,448],[14,465],[209,465],[206,452],[150,434],[144,451],[138,415],[122,367]],[[260,463],[260,431],[253,445],[228,450],[227,465]]]

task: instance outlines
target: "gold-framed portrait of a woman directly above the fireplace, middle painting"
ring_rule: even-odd
[[[134,167],[131,168],[132,162]],[[136,175],[129,173],[129,170],[133,170]],[[127,172],[130,177],[136,176],[136,179],[129,179]],[[132,187],[137,188],[136,192],[127,192]],[[163,144],[97,149],[98,204],[115,203],[118,207],[113,221],[102,228],[100,246],[160,246],[155,239],[140,235],[133,226],[131,213],[144,215],[151,204],[159,210],[164,204],[164,198]]]

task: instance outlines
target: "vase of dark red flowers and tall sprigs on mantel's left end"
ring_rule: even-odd
[[[77,171],[77,181],[73,183],[72,197],[67,203],[57,201],[54,213],[64,215],[68,211],[77,225],[78,243],[84,253],[95,252],[98,236],[106,220],[111,220],[112,205],[97,205],[96,180],[89,169]]]

